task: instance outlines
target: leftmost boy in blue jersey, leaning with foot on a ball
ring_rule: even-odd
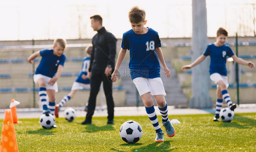
[[[56,81],[60,78],[66,59],[66,56],[63,54],[66,48],[66,40],[55,39],[53,45],[53,49],[42,49],[28,57],[28,62],[34,64],[35,57],[42,56],[33,79],[40,87],[39,98],[43,105],[43,113],[51,113],[52,115],[54,115],[55,109],[55,91],[58,92]],[[46,94],[49,98],[48,106]]]

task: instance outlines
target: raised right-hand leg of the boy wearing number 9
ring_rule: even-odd
[[[234,111],[234,109],[236,108],[236,104],[232,103],[231,99],[230,99],[230,96],[229,96],[229,93],[227,92],[227,86],[226,84],[224,83],[223,80],[221,81],[218,81],[218,86],[220,87],[221,89],[221,95],[222,97],[224,98],[224,100],[227,102],[227,105],[228,107],[230,108],[230,110]]]

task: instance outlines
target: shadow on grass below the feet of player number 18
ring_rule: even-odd
[[[171,140],[169,141],[164,141],[164,142],[155,142],[149,145],[146,145],[144,147],[140,147],[140,148],[134,148],[132,149],[132,151],[164,151],[164,152],[168,152],[168,151],[173,151],[177,148],[170,148],[171,145]]]

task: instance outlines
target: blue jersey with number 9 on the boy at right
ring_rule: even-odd
[[[210,55],[210,75],[219,73],[222,76],[227,76],[227,56],[231,57],[234,55],[232,49],[228,45],[224,44],[221,47],[217,47],[214,44],[209,44],[203,55]]]

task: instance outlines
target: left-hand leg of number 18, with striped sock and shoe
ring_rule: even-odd
[[[157,115],[156,115],[156,112],[155,112],[155,109],[154,109],[153,100],[151,98],[150,92],[148,92],[148,93],[146,93],[144,95],[141,95],[141,98],[142,98],[143,103],[145,105],[147,115],[148,115],[148,117],[149,117],[152,125],[154,126],[155,131],[156,131],[156,139],[155,139],[155,141],[156,142],[164,141],[164,139],[163,139],[163,131],[160,128],[160,125],[158,123]]]

